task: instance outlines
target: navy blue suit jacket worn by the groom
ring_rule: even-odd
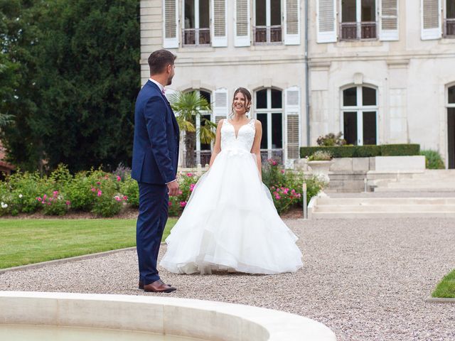
[[[180,131],[175,115],[159,87],[146,82],[134,111],[133,179],[164,185],[176,178]]]

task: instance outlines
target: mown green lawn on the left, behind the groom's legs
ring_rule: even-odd
[[[0,220],[0,269],[134,246],[135,219]]]

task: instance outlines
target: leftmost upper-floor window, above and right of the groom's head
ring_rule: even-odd
[[[210,0],[184,0],[183,45],[210,45]]]

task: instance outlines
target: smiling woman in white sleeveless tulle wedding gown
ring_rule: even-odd
[[[250,92],[239,87],[231,119],[218,124],[210,168],[166,239],[160,265],[168,271],[279,274],[302,266],[297,237],[279,217],[262,183],[262,126],[247,118],[250,106]]]

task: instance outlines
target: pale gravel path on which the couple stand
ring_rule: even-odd
[[[455,268],[453,220],[287,224],[304,253],[304,268],[296,274],[186,276],[163,270],[162,278],[178,288],[171,296],[304,315],[326,324],[340,341],[455,340],[455,304],[425,301]],[[154,295],[136,285],[134,251],[0,274],[0,290]]]

